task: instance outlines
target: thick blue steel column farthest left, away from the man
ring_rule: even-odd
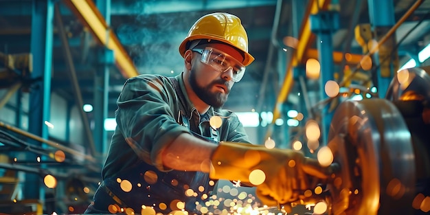
[[[41,80],[35,82],[30,91],[28,131],[44,139],[48,139],[47,126],[44,125],[44,122],[49,121],[51,102],[53,19],[53,0],[33,0],[30,47],[33,57],[33,71],[31,76],[32,78],[41,78]],[[36,155],[29,153],[26,159],[36,162]],[[44,201],[45,189],[41,177],[36,174],[25,174],[23,194],[25,199]]]

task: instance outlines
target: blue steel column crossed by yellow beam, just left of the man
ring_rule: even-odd
[[[106,24],[111,25],[111,1],[98,0],[96,5],[100,13],[104,16]],[[106,32],[106,37],[107,37]],[[107,152],[106,131],[104,130],[104,120],[108,116],[109,101],[109,61],[113,57],[106,47],[100,50],[99,66],[94,77],[94,143],[95,148],[102,155]]]

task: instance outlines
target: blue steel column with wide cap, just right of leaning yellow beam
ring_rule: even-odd
[[[332,32],[339,28],[339,13],[336,11],[320,11],[310,16],[310,30],[317,34],[317,49],[321,71],[319,73],[319,98],[328,98],[324,89],[328,80],[334,80],[335,63],[333,61]],[[333,111],[332,111],[333,112]],[[332,120],[332,112],[328,113],[328,105],[321,113],[321,146],[327,144],[328,130]]]

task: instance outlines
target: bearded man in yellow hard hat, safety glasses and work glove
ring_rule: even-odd
[[[221,109],[254,60],[237,16],[201,17],[179,52],[184,71],[178,76],[140,75],[124,84],[103,181],[87,213],[139,214],[152,207],[200,214],[196,202],[217,179],[256,185],[258,199],[275,205],[297,200],[307,174],[326,177],[300,152],[249,144],[237,115]]]

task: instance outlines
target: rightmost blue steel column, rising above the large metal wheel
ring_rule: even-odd
[[[376,40],[394,25],[394,2],[392,0],[368,0],[370,23],[373,27],[373,32],[376,33]],[[396,45],[396,34],[393,34],[374,54],[374,63],[379,65],[376,73],[378,82],[378,95],[385,97],[385,93],[389,87],[389,83],[394,77],[394,71],[398,69],[396,63],[392,63],[393,56],[392,47]],[[381,62],[384,60],[385,62]]]

